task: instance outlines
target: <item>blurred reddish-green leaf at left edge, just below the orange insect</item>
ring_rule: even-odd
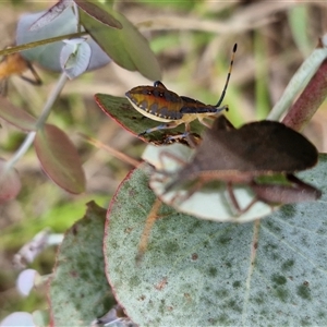
[[[36,130],[36,119],[3,97],[0,97],[0,117],[23,131]]]

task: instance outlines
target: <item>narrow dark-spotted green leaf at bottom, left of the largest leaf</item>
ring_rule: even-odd
[[[64,237],[50,284],[53,326],[90,326],[113,304],[104,274],[105,217],[106,210],[90,202]]]

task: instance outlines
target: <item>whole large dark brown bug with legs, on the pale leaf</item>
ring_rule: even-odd
[[[315,201],[322,192],[299,180],[293,173],[317,164],[316,147],[302,134],[276,121],[247,123],[240,129],[220,116],[196,148],[191,162],[178,171],[166,192],[187,181],[195,184],[187,197],[204,184],[219,181],[228,191],[238,215],[257,201],[271,206]],[[254,198],[241,208],[233,187],[246,185]]]

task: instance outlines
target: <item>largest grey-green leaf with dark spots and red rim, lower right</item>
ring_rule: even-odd
[[[105,231],[107,275],[125,313],[141,326],[325,325],[326,165],[323,155],[299,173],[324,192],[319,201],[282,206],[256,222],[199,220],[162,205],[138,266],[156,196],[144,170],[131,172]]]

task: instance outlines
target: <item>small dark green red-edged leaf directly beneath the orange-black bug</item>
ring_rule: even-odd
[[[106,114],[135,136],[138,136],[140,133],[160,124],[160,122],[146,118],[135,110],[126,98],[114,97],[107,94],[96,94],[95,100]],[[192,133],[197,136],[199,136],[202,131],[205,129],[198,121],[193,121],[191,126]],[[173,130],[161,130],[138,136],[138,138],[147,143],[162,144],[167,136],[179,135],[184,132],[185,126],[184,124],[181,124]]]

